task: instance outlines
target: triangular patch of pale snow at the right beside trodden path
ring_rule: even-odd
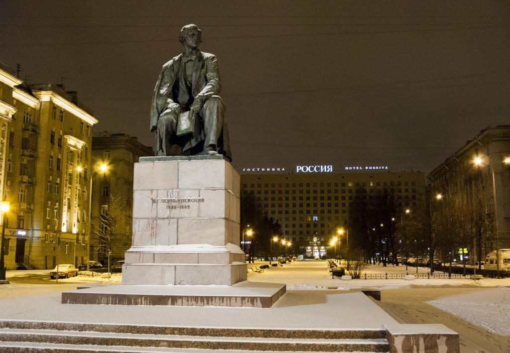
[[[428,304],[489,332],[510,336],[510,288],[498,287],[431,300]]]

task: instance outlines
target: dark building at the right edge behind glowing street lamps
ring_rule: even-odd
[[[509,159],[510,125],[491,125],[427,175],[432,197],[441,193],[442,203],[464,210],[467,232],[481,229],[477,247],[482,261],[496,244],[500,249],[510,247]],[[451,213],[451,207],[440,206],[432,210],[440,216]],[[456,247],[469,248],[471,254],[472,246],[472,241],[464,244],[459,239]]]

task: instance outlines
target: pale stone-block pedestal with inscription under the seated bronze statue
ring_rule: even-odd
[[[140,158],[134,173],[133,246],[125,254],[122,284],[246,281],[239,183],[222,155]]]

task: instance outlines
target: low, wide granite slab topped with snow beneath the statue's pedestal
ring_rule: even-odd
[[[270,308],[285,284],[240,282],[233,286],[109,286],[62,293],[62,304],[215,306]]]

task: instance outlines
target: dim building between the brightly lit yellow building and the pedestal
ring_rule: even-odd
[[[108,251],[112,253],[112,261],[119,260],[131,247],[133,171],[135,163],[144,156],[154,156],[154,152],[151,147],[138,142],[136,137],[104,134],[92,139],[95,171],[92,180],[90,251],[91,259],[104,265],[108,261]],[[97,169],[101,163],[108,165],[106,172]]]

